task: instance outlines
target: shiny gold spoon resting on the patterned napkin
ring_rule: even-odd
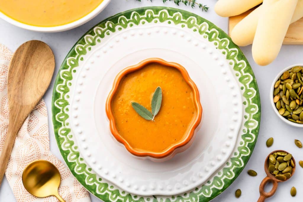
[[[25,189],[36,197],[55,196],[60,202],[65,200],[58,194],[61,177],[58,169],[49,161],[37,160],[28,164],[22,174]]]

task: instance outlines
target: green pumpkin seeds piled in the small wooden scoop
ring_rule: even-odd
[[[286,180],[291,177],[292,168],[295,167],[292,155],[284,151],[277,151],[268,157],[268,171],[278,180]]]

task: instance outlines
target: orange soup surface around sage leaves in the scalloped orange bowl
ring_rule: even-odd
[[[138,102],[151,111],[155,89],[162,89],[162,104],[155,121],[132,108]],[[187,136],[197,117],[193,90],[175,68],[151,63],[127,74],[112,101],[116,127],[137,151],[161,153]]]

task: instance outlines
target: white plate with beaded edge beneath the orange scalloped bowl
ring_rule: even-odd
[[[105,114],[118,72],[151,57],[184,66],[203,108],[191,147],[161,163],[129,154],[112,137]],[[231,155],[242,123],[241,91],[230,68],[212,42],[177,25],[148,23],[105,36],[79,61],[71,81],[68,122],[79,151],[100,177],[133,194],[173,195],[197,187]]]

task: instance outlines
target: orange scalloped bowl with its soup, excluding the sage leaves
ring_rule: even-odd
[[[162,103],[155,121],[132,108],[138,102],[150,111],[155,89],[162,89]],[[137,157],[168,160],[193,142],[201,122],[199,91],[181,65],[149,58],[120,71],[106,101],[110,131]]]

